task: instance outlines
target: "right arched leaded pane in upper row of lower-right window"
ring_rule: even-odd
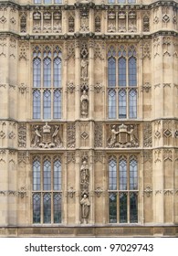
[[[130,190],[138,189],[138,174],[137,174],[137,161],[131,159],[130,161]]]

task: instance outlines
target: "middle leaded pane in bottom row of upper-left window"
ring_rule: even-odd
[[[49,90],[43,93],[43,118],[51,118],[51,92]]]

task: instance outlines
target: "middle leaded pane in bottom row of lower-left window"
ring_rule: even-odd
[[[44,194],[43,197],[43,222],[51,222],[51,195],[50,193]]]

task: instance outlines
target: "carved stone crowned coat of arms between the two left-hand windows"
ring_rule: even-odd
[[[32,124],[31,147],[34,148],[62,148],[62,124]]]

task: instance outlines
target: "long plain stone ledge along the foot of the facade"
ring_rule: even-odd
[[[6,227],[0,237],[177,237],[176,226]]]

